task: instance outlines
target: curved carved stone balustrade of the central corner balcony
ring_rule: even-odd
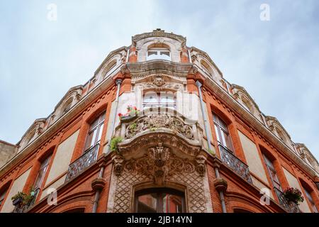
[[[181,133],[181,135],[190,140],[194,139],[191,126],[186,125],[176,116],[169,116],[167,114],[152,114],[138,118],[126,127],[125,138],[132,138],[134,135],[152,128],[169,128],[172,131]]]

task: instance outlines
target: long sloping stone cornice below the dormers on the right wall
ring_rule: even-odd
[[[236,112],[239,116],[241,116],[245,121],[249,122],[254,128],[254,130],[258,131],[260,135],[264,136],[270,143],[275,145],[279,150],[283,151],[287,157],[290,157],[293,162],[296,162],[303,170],[305,170],[309,175],[315,177],[318,175],[318,172],[315,172],[312,167],[307,165],[300,157],[296,155],[296,153],[291,150],[284,142],[276,138],[276,136],[269,131],[269,128],[264,126],[260,121],[257,120],[250,112],[246,111],[239,103],[236,101],[230,94],[225,92],[225,90],[220,87],[216,82],[214,82],[211,78],[206,77],[205,80],[206,88],[210,90],[213,94],[218,96],[220,100],[225,101],[230,109]],[[207,86],[208,85],[208,86]]]

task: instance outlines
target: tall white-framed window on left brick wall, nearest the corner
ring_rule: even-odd
[[[103,131],[104,118],[106,111],[103,111],[94,121],[91,123],[89,133],[86,136],[86,142],[84,145],[84,152],[89,150],[100,143],[101,135]]]

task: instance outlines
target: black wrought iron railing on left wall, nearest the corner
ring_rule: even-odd
[[[69,170],[67,170],[67,177],[65,178],[65,182],[68,182],[70,179],[77,177],[77,175],[82,173],[96,161],[99,146],[99,144],[96,144],[93,148],[86,150],[86,152],[81,157],[79,157],[77,160],[72,162],[71,165],[69,165]]]

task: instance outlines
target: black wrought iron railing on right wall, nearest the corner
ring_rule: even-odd
[[[248,166],[238,159],[238,157],[233,155],[230,150],[224,148],[223,145],[218,145],[218,148],[223,162],[228,165],[230,169],[236,172],[237,175],[240,175],[240,177],[252,184],[252,177],[250,177],[250,170]]]

